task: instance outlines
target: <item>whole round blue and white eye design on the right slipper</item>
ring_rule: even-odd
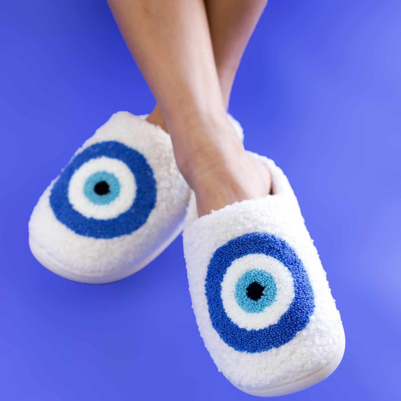
[[[218,248],[205,290],[213,328],[237,351],[263,352],[289,342],[314,310],[302,261],[286,241],[266,233]]]

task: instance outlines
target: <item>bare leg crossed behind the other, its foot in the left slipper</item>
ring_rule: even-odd
[[[205,0],[205,4],[221,93],[228,108],[235,73],[267,0]],[[158,105],[148,121],[167,131]]]

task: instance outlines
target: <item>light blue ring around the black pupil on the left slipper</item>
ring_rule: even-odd
[[[95,192],[95,186],[99,183],[106,183],[108,185],[108,192],[106,194]],[[120,188],[120,182],[114,174],[107,171],[98,171],[86,180],[83,193],[95,205],[108,205],[119,196]]]

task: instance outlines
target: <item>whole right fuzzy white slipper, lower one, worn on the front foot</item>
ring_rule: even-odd
[[[184,253],[196,322],[219,371],[238,389],[273,397],[328,377],[345,337],[316,248],[288,179],[272,160],[273,195],[197,218]]]

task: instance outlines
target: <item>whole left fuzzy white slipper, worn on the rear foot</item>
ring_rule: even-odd
[[[29,246],[47,269],[86,284],[115,282],[182,231],[190,188],[170,135],[144,117],[113,114],[39,199]],[[241,126],[229,119],[241,138]]]

